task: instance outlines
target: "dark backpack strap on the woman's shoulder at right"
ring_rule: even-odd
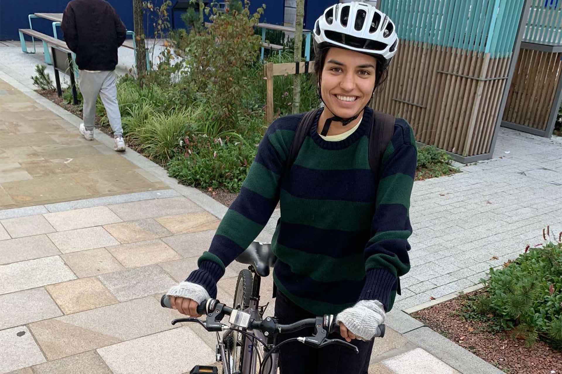
[[[373,128],[369,136],[369,165],[377,180],[382,172],[384,151],[394,134],[395,122],[396,118],[389,114],[374,112]]]

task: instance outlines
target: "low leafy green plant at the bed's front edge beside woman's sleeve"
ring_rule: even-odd
[[[184,154],[167,164],[170,177],[199,188],[239,192],[255,158],[260,135],[239,141],[192,135],[184,139]]]

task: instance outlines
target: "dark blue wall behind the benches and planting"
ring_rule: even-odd
[[[154,1],[154,0],[153,0]],[[133,30],[133,6],[131,0],[108,0],[115,8],[128,30]],[[173,1],[175,3],[175,0]],[[305,28],[314,27],[314,22],[328,6],[339,0],[306,0]],[[69,0],[0,0],[0,40],[19,40],[17,29],[28,29],[28,15],[31,13],[62,13]],[[161,0],[155,3],[161,4]],[[252,0],[251,11],[255,12],[260,4],[265,3],[261,22],[283,24],[284,0]],[[184,27],[180,19],[181,12],[175,12],[175,26]],[[52,22],[33,19],[33,29],[52,35]],[[148,30],[147,35],[153,31]]]

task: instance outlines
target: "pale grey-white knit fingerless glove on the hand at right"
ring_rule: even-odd
[[[377,300],[361,300],[351,308],[341,311],[336,322],[342,322],[357,338],[371,340],[377,327],[384,324],[384,306]]]

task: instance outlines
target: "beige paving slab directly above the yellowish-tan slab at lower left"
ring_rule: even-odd
[[[106,248],[67,253],[61,257],[78,278],[87,278],[125,269]]]

